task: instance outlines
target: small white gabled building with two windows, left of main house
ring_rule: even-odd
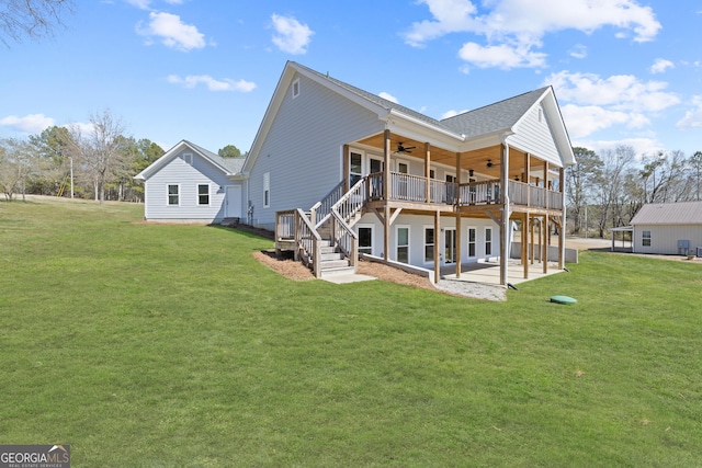
[[[144,181],[144,218],[161,222],[220,222],[241,217],[244,159],[222,158],[182,140],[135,176]]]

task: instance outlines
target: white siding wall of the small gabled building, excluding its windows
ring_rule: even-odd
[[[192,164],[183,159],[192,155]],[[178,184],[179,205],[168,205],[168,185]],[[210,205],[197,204],[197,185],[210,184]],[[236,185],[192,150],[180,151],[145,183],[145,218],[179,222],[213,222],[224,218],[225,187]],[[246,213],[246,212],[245,212]]]

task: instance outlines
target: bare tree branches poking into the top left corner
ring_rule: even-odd
[[[0,0],[0,41],[52,36],[72,9],[72,0]]]

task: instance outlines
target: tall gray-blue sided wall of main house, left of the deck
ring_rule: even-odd
[[[377,115],[297,76],[299,95],[291,89],[275,115],[249,175],[251,224],[274,229],[275,212],[307,209],[342,180],[343,145],[382,132]],[[295,81],[293,80],[293,82]],[[263,178],[270,178],[270,206],[263,204]]]

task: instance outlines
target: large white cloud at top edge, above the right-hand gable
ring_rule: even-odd
[[[485,36],[485,45],[467,43],[461,53],[464,60],[478,67],[543,67],[545,54],[532,49],[542,46],[547,33],[577,30],[590,34],[613,26],[620,28],[618,34],[633,34],[635,42],[646,42],[661,27],[653,10],[636,0],[490,0],[482,2],[484,13],[471,0],[419,0],[419,3],[429,8],[432,20],[412,23],[404,33],[405,42],[421,47],[450,33]],[[489,59],[488,53],[499,54],[503,59]],[[582,54],[578,48],[571,52],[578,58]]]

